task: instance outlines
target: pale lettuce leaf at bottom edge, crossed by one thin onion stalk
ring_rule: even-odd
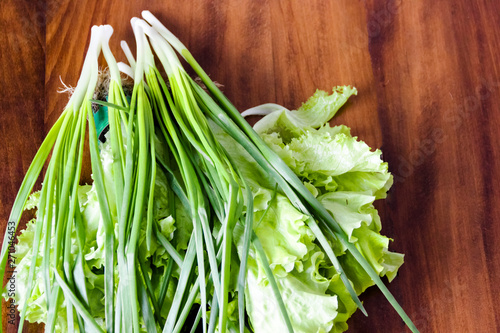
[[[314,243],[315,237],[305,222],[307,216],[285,196],[278,195],[271,201],[271,190],[260,189],[255,198],[254,231],[269,260],[295,332],[329,332],[337,314],[338,300],[336,295],[327,292],[330,281],[320,271],[328,265],[324,253]],[[263,198],[266,204],[260,202]],[[267,205],[271,207],[262,216]],[[243,247],[243,228],[237,225],[234,231],[239,252]],[[262,262],[253,247],[248,258],[245,299],[255,332],[286,331]]]

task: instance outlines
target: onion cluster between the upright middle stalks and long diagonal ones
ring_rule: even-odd
[[[149,37],[149,41],[168,77],[169,85],[167,86],[159,74],[159,70],[154,67],[153,62],[149,62],[150,66],[145,67],[146,81],[149,91],[155,100],[154,104],[158,108],[156,113],[158,115],[157,118],[161,119],[160,127],[162,133],[172,151],[172,155],[176,159],[183,184],[185,184],[187,200],[189,201],[188,206],[193,218],[194,237],[192,240],[194,239],[195,241],[193,247],[196,249],[196,259],[198,261],[198,277],[205,276],[204,251],[208,255],[210,267],[210,274],[208,276],[214,287],[214,297],[211,302],[211,317],[214,318],[214,314],[216,316],[218,313],[219,330],[225,331],[227,329],[228,287],[233,248],[232,232],[236,222],[241,221],[245,224],[245,245],[244,259],[241,261],[242,265],[240,266],[238,278],[240,331],[244,331],[245,329],[244,286],[246,258],[250,242],[253,241],[257,250],[262,250],[258,252],[262,257],[263,263],[269,268],[266,270],[266,275],[272,281],[271,286],[280,305],[281,313],[287,323],[288,330],[292,332],[291,321],[281,299],[277,283],[262,247],[257,246],[260,244],[258,238],[252,231],[252,193],[249,187],[245,185],[243,177],[241,177],[231,162],[230,157],[215,139],[209,127],[204,111],[204,108],[209,103],[206,103],[206,101],[200,102],[198,98],[199,92],[197,91],[200,87],[185,72],[167,40],[152,29],[151,26],[147,25],[145,21],[134,19],[132,25],[136,32],[136,39],[138,38],[138,32],[143,32]],[[147,56],[142,57],[152,59],[152,54],[150,54],[151,49],[144,44],[141,45],[141,50],[148,53]],[[131,62],[131,66],[134,66],[133,62]],[[139,66],[139,61],[137,61],[135,66],[136,68]],[[122,65],[122,67],[124,66]],[[138,79],[137,76],[135,79]],[[211,208],[207,206],[206,200],[202,195],[203,193],[208,197]],[[246,218],[243,214],[244,201],[246,201],[247,205]],[[212,230],[210,230],[207,223],[208,213],[212,211],[218,217],[216,222],[220,224],[219,236],[221,235],[222,237],[219,238],[220,247],[217,248],[220,259],[219,256],[215,255]],[[201,233],[204,235],[203,239],[200,236]],[[219,242],[216,242],[216,245],[219,245]],[[183,263],[181,277],[179,278],[183,283],[179,282],[177,286],[174,301],[163,329],[164,332],[175,331],[175,328],[180,327],[179,324],[184,324],[184,322],[179,323],[179,321],[185,320],[185,316],[181,313],[178,320],[177,317],[182,306],[182,299],[185,298],[187,288],[185,281],[188,279],[187,276],[191,274],[185,268],[189,270],[193,269],[192,262],[188,261],[187,258],[188,256],[186,256],[186,260]],[[193,257],[189,258],[191,258],[191,261],[194,260]],[[195,287],[199,288],[201,299],[200,317],[203,323],[203,331],[206,331],[207,285],[204,279],[198,278],[193,288]],[[187,305],[189,305],[190,300],[192,301],[193,298],[188,297]],[[209,331],[213,331],[215,328],[215,325],[212,324],[213,322],[214,320],[212,319]]]

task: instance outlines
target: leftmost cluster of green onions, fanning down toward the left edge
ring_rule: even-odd
[[[49,332],[55,330],[59,319],[56,318],[55,313],[57,313],[60,304],[58,300],[63,294],[70,330],[75,329],[75,317],[80,331],[84,331],[85,327],[98,327],[86,309],[88,308],[86,306],[88,299],[85,281],[83,281],[83,274],[81,274],[85,265],[81,253],[84,230],[78,202],[78,185],[86,136],[86,118],[89,114],[89,120],[92,120],[89,100],[94,94],[97,82],[97,58],[101,49],[103,29],[105,28],[92,28],[91,41],[78,85],[61,116],[50,129],[36,153],[21,184],[9,217],[9,221],[14,222],[17,229],[28,196],[52,152],[40,191],[35,236],[31,249],[32,261],[28,273],[28,294],[25,296],[25,299],[29,300],[33,291],[33,279],[38,253],[41,249],[44,253],[41,268],[47,304],[46,330]],[[92,129],[94,128],[89,126],[89,130]],[[42,237],[42,232],[45,237]],[[72,232],[77,235],[77,253],[72,253],[70,237]],[[6,233],[2,243],[0,279],[3,279],[5,274],[9,243],[9,235]],[[27,303],[25,302],[23,308],[20,309],[19,332],[23,329]]]

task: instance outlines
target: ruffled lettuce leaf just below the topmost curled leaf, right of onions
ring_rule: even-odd
[[[326,191],[369,192],[384,198],[392,185],[380,150],[371,151],[345,127],[308,129],[289,143],[278,133],[263,134],[264,141],[302,179]]]

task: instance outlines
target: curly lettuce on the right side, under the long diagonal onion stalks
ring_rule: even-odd
[[[385,198],[392,185],[388,165],[380,150],[351,135],[344,125],[327,122],[356,94],[351,87],[336,87],[328,95],[317,91],[297,111],[274,107],[254,126],[266,144],[299,176],[325,206],[380,276],[391,281],[403,264],[403,255],[388,250],[390,239],[380,234],[382,224],[373,206]],[[259,237],[296,332],[344,332],[357,307],[317,245],[307,217],[278,194],[271,202],[274,184],[234,140],[222,131],[217,138],[244,170],[254,193],[254,231]],[[258,185],[258,186],[255,186]],[[257,188],[257,189],[256,189]],[[270,209],[261,219],[267,206]],[[235,242],[242,247],[243,226],[235,228]],[[374,283],[357,261],[337,241],[332,247],[361,294]],[[245,292],[247,314],[255,332],[284,332],[285,322],[255,250],[250,249]]]

